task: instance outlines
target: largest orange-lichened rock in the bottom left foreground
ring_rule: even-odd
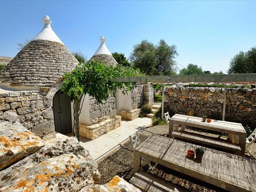
[[[0,191],[80,191],[98,180],[96,162],[75,137],[47,144],[0,172]]]

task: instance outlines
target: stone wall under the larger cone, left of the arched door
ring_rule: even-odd
[[[53,90],[53,91],[52,91]],[[0,119],[8,120],[9,112],[17,114],[17,121],[38,137],[55,137],[52,97],[55,88],[47,92],[17,91],[0,94]]]

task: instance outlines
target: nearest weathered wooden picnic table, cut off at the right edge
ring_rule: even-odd
[[[204,148],[201,162],[186,157],[198,145],[152,135],[134,150],[134,174],[145,157],[177,172],[232,192],[256,192],[256,160]]]

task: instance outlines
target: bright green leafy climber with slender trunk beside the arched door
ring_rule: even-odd
[[[114,77],[143,76],[139,70],[131,67],[105,66],[101,61],[89,61],[87,64],[80,63],[75,70],[63,76],[61,90],[66,93],[71,101],[74,101],[76,137],[79,140],[79,111],[83,95],[89,94],[99,103],[108,99],[110,95],[116,95],[117,90],[123,93],[134,89],[134,82],[112,82]]]

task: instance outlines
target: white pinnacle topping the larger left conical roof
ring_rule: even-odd
[[[50,20],[48,15],[45,15],[44,18],[42,19],[43,23],[44,23],[44,28],[42,29],[41,32],[38,33],[38,35],[35,36],[35,38],[32,39],[33,40],[48,40],[48,41],[55,41],[61,44],[62,41],[60,40],[60,38],[58,38],[58,36],[55,34],[55,32],[52,30],[51,27],[51,23],[52,21]]]

